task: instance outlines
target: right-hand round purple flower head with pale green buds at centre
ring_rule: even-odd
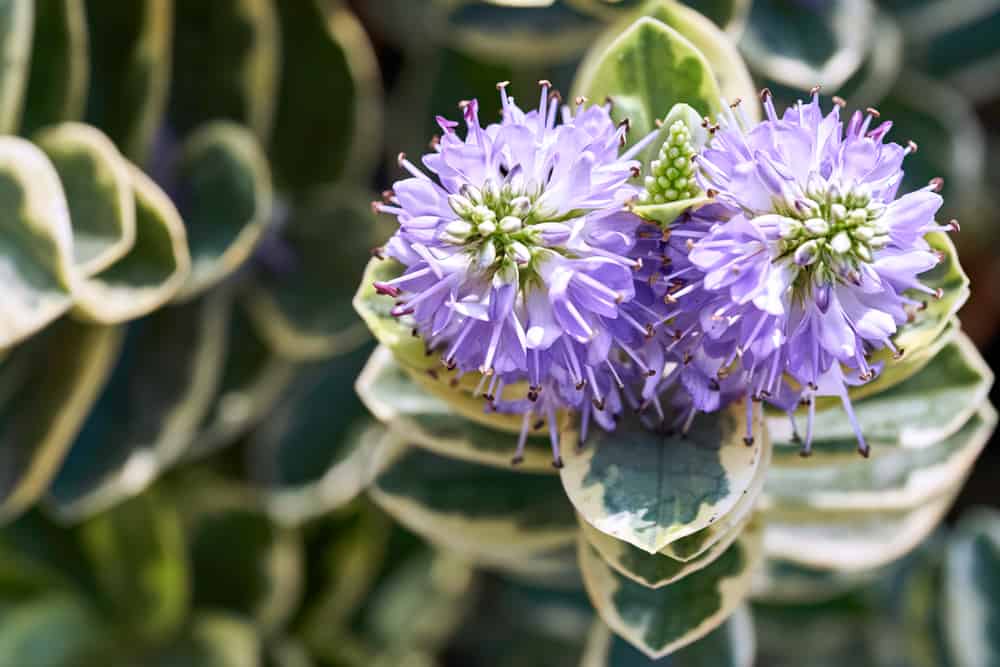
[[[749,396],[789,412],[839,396],[858,437],[847,386],[874,378],[872,352],[935,296],[920,282],[938,255],[924,240],[947,231],[934,216],[938,183],[897,197],[912,150],[884,141],[878,113],[823,114],[818,94],[751,126],[720,120],[696,160],[715,204],[685,216],[666,243],[674,326],[724,373],[738,362]],[[689,352],[689,354],[692,354]],[[791,380],[791,382],[789,382]]]

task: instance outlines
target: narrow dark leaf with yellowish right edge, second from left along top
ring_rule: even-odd
[[[37,0],[34,28],[31,73],[21,123],[23,134],[46,125],[79,120],[87,101],[88,49],[83,0]]]

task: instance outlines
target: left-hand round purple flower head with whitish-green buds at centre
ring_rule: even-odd
[[[561,406],[603,410],[622,383],[612,346],[641,344],[656,316],[634,302],[642,221],[624,206],[646,142],[620,154],[627,124],[582,99],[560,106],[540,84],[529,112],[500,84],[502,120],[486,127],[477,102],[463,103],[464,137],[439,117],[430,175],[400,156],[411,177],[376,204],[399,222],[385,254],[406,267],[376,289],[449,369],[481,373],[495,408],[523,412],[525,433]],[[522,381],[525,400],[501,399]],[[553,446],[558,463],[556,434]]]

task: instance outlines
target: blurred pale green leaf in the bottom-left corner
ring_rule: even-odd
[[[3,614],[0,664],[83,667],[110,640],[108,628],[85,602],[50,594]]]

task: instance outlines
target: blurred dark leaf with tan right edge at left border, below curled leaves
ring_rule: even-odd
[[[121,332],[62,319],[0,365],[0,519],[38,500],[114,365]],[[38,375],[39,368],[58,373]]]

